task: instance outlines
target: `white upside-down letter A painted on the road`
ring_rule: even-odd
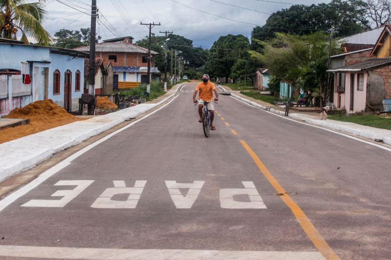
[[[205,183],[203,180],[195,180],[193,183],[177,183],[175,180],[166,180],[165,182],[177,209],[190,209]],[[183,196],[179,189],[189,189],[189,191]]]

